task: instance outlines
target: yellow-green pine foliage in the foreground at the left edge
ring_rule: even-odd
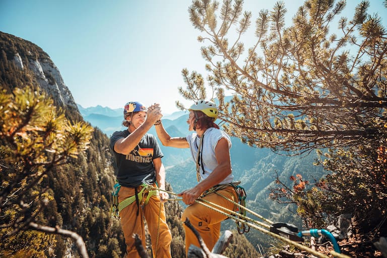
[[[43,178],[88,148],[92,127],[72,124],[50,98],[29,87],[15,88],[13,94],[0,91],[0,212],[5,215],[0,217],[0,249],[52,255],[53,237],[25,231],[31,222],[48,223],[42,211],[56,204],[48,205],[54,197],[42,187]],[[48,245],[41,245],[45,241]]]

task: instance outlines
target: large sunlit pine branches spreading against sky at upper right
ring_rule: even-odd
[[[242,1],[193,1],[190,21],[208,62],[208,84],[219,99],[226,130],[252,146],[306,152],[316,148],[379,143],[386,131],[386,30],[361,2],[353,18],[334,18],[345,1],[305,1],[285,27],[285,3],[256,20],[253,46],[241,36],[251,21]],[[236,37],[230,32],[235,28]],[[205,98],[205,81],[182,71],[187,99]],[[224,101],[225,92],[235,93]],[[180,105],[181,106],[181,105]],[[182,107],[182,106],[181,106]]]

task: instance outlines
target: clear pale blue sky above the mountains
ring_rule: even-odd
[[[370,14],[387,17],[382,0],[370,2]],[[244,10],[253,14],[247,42],[259,11],[271,10],[275,3],[245,1]],[[285,1],[288,22],[302,3]],[[352,18],[358,3],[347,0],[341,16]],[[188,0],[0,0],[0,31],[40,46],[83,107],[156,102],[167,114],[177,111],[176,100],[190,104],[177,90],[185,87],[183,68],[207,75],[197,41],[201,33],[189,22],[190,4]],[[387,18],[383,19],[386,24]]]

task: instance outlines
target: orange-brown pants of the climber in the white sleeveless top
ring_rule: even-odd
[[[232,186],[227,186],[221,190],[217,190],[217,192],[234,202],[238,202],[238,197]],[[215,192],[210,193],[202,199],[222,206],[228,210],[235,211],[236,208],[233,203],[217,195]],[[194,203],[184,210],[181,219],[184,222],[186,218],[188,218],[192,226],[199,232],[208,249],[211,251],[220,236],[220,223],[225,220],[227,216],[199,203]],[[185,224],[183,225],[185,231],[185,256],[187,256],[188,248],[191,244],[198,247],[200,247],[200,245],[195,234],[193,234]]]

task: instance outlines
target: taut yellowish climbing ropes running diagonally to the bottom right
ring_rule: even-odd
[[[158,189],[158,188],[156,188],[156,187],[154,187],[154,188],[155,188],[155,189]],[[158,189],[158,190],[165,191],[165,192],[169,193],[170,195],[177,196],[176,193],[171,192],[171,191],[167,191],[167,190],[164,190],[164,189]],[[215,191],[215,192],[216,192],[216,191]],[[221,195],[220,193],[218,193],[218,195],[221,196],[221,197],[223,197],[223,198],[225,198],[226,200],[232,202],[234,205],[238,206],[239,208],[245,209],[246,211],[248,211],[248,212],[250,212],[251,214],[253,214],[254,216],[256,216],[256,217],[258,217],[258,218],[264,220],[265,222],[270,223],[270,224],[274,224],[272,221],[270,221],[270,220],[264,218],[263,216],[261,216],[261,215],[259,215],[259,214],[256,214],[255,212],[253,212],[253,211],[251,211],[251,210],[249,210],[249,209],[247,209],[247,208],[245,208],[245,207],[239,205],[238,203],[236,203],[236,202],[234,202],[234,201],[228,199],[227,197]],[[182,201],[182,199],[181,199],[181,198],[168,199],[168,201]],[[228,217],[228,218],[230,218],[230,219],[232,219],[232,220],[234,220],[234,221],[238,221],[238,222],[240,222],[240,223],[244,223],[244,224],[248,225],[248,226],[251,227],[251,228],[255,228],[256,230],[261,231],[262,233],[265,233],[265,234],[270,235],[270,236],[272,236],[272,237],[274,237],[274,238],[277,238],[277,239],[279,239],[279,240],[281,240],[281,241],[283,241],[283,242],[286,242],[286,243],[288,243],[288,244],[291,244],[291,245],[293,245],[293,246],[296,246],[296,247],[299,248],[300,250],[304,250],[304,251],[306,251],[306,252],[308,252],[308,253],[310,253],[310,254],[313,254],[313,255],[316,256],[316,257],[320,257],[320,258],[330,258],[329,256],[327,256],[327,255],[325,255],[325,254],[323,254],[323,253],[320,253],[320,252],[318,252],[318,251],[316,251],[316,250],[313,250],[313,249],[311,249],[311,248],[309,248],[309,247],[307,247],[307,246],[305,246],[305,245],[302,245],[302,244],[300,244],[300,243],[298,243],[298,242],[296,242],[296,241],[290,240],[290,239],[287,238],[287,237],[281,236],[281,235],[279,235],[279,234],[276,234],[276,233],[273,233],[273,232],[267,230],[267,229],[270,229],[270,227],[271,227],[271,225],[269,225],[269,224],[266,224],[266,223],[263,223],[263,222],[260,222],[260,221],[256,221],[256,220],[251,219],[251,218],[249,218],[249,217],[247,217],[247,216],[244,216],[244,215],[239,214],[239,213],[237,213],[237,212],[231,211],[231,210],[229,210],[229,209],[227,209],[227,208],[224,208],[224,207],[219,206],[219,205],[217,205],[217,204],[211,203],[211,202],[209,202],[209,201],[207,201],[207,200],[204,200],[204,199],[202,199],[202,198],[198,198],[197,200],[195,200],[195,203],[199,203],[199,204],[201,204],[201,205],[203,205],[203,206],[205,206],[205,207],[207,207],[207,208],[209,208],[209,209],[212,209],[212,210],[214,210],[214,211],[217,211],[217,212],[221,213],[222,215],[225,215],[226,217]],[[267,229],[265,229],[265,228],[267,228]],[[334,250],[331,250],[330,253],[331,253],[333,256],[338,257],[338,258],[351,258],[351,257],[348,256],[348,255],[345,255],[345,254],[336,252],[336,251],[334,251]]]

